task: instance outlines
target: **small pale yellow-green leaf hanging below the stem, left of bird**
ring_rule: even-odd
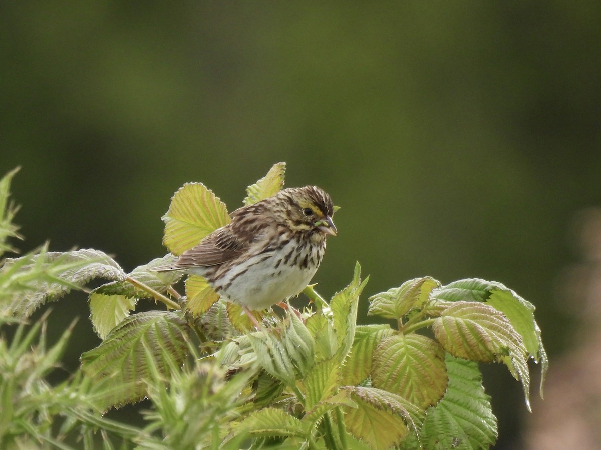
[[[93,293],[88,302],[90,320],[100,339],[106,338],[109,332],[136,308],[136,298],[128,298],[124,295]]]

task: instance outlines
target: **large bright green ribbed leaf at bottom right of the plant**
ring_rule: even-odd
[[[496,441],[496,418],[478,364],[450,355],[445,361],[448,389],[441,402],[426,413],[421,430],[424,449],[488,448]]]

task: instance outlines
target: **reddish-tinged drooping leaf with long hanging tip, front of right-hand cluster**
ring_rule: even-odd
[[[502,313],[486,304],[456,302],[434,320],[432,330],[442,347],[457,358],[503,362],[522,382],[526,407],[530,409],[528,350]]]

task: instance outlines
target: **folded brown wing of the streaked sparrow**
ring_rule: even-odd
[[[200,241],[196,247],[186,250],[177,262],[181,268],[209,267],[219,265],[242,255],[249,247],[248,240],[232,232],[226,226]]]

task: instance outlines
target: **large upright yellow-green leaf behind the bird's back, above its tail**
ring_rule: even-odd
[[[201,183],[187,183],[171,198],[163,245],[174,255],[190,250],[203,238],[230,223],[224,203]]]

